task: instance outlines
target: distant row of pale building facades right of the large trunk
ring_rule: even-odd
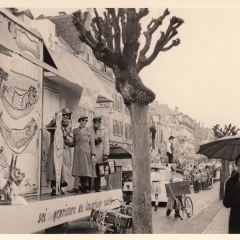
[[[166,162],[168,161],[166,146],[170,136],[175,137],[174,159],[181,163],[200,159],[202,156],[196,154],[199,146],[214,140],[210,129],[200,126],[196,120],[179,112],[178,107],[172,110],[168,105],[155,101],[150,106],[150,115],[157,129],[156,149],[160,158]]]

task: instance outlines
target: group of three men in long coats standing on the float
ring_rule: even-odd
[[[62,195],[65,193],[62,187],[68,185],[70,176],[73,176],[74,187],[70,193],[89,193],[91,180],[94,178],[94,189],[101,191],[101,178],[96,175],[96,163],[106,161],[109,155],[108,130],[101,125],[102,117],[93,117],[93,124],[86,127],[88,117],[82,115],[78,118],[79,127],[72,131],[72,112],[69,109],[62,109],[62,133],[64,139],[63,165],[60,182]],[[56,195],[56,171],[54,164],[54,133],[56,121],[52,120],[47,125],[47,130],[51,133],[51,141],[48,151],[47,179],[51,180],[51,195]],[[71,168],[71,151],[74,148],[73,165]]]

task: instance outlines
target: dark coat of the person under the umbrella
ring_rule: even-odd
[[[223,205],[226,208],[231,208],[229,217],[229,233],[240,233],[240,182],[239,172],[232,176],[225,187],[225,196]]]

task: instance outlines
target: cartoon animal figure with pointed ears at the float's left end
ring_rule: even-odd
[[[17,156],[14,160],[14,155],[12,155],[11,165],[9,166],[9,177],[7,182],[2,190],[0,190],[1,199],[0,201],[12,202],[16,196],[16,189],[21,184],[23,178],[25,177],[24,173],[21,173],[21,170],[16,168]]]

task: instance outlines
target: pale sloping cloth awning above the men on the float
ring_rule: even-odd
[[[60,76],[81,87],[92,86],[99,91],[98,102],[112,102],[111,94],[104,88],[100,80],[81,59],[75,57],[59,45],[55,44],[55,52],[48,48]],[[48,77],[49,78],[49,77]]]

